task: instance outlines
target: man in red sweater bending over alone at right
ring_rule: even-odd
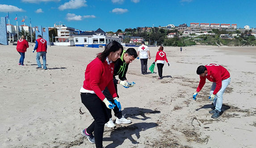
[[[210,101],[214,103],[214,109],[209,111],[213,114],[212,118],[220,116],[223,94],[228,84],[230,83],[230,74],[226,68],[218,64],[208,64],[206,66],[199,66],[197,74],[200,76],[200,82],[196,92],[193,94],[193,99],[196,100],[197,93],[203,88],[206,83],[206,78],[213,82],[210,90]]]

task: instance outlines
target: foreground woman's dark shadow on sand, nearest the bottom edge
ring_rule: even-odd
[[[113,143],[107,145],[105,148],[116,148],[122,145],[126,139],[129,139],[132,144],[138,144],[139,142],[134,140],[132,135],[135,134],[137,139],[140,138],[139,132],[146,131],[149,128],[157,127],[157,123],[134,123],[129,126],[118,127],[114,129],[110,137],[103,138],[103,141],[113,141]]]

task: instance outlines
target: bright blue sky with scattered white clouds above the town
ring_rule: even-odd
[[[256,0],[0,0],[10,24],[116,32],[118,29],[186,23],[237,24],[256,28]],[[7,20],[8,23],[8,20]]]

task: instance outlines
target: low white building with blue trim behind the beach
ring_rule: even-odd
[[[96,31],[86,31],[78,35],[74,35],[76,46],[103,48],[109,44],[110,41],[118,41],[121,44],[122,38],[118,36],[106,35],[100,28]]]

